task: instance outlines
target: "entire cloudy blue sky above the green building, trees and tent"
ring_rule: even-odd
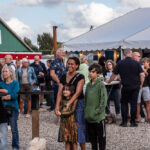
[[[139,7],[150,7],[150,0],[0,0],[0,17],[34,44],[54,25],[65,42]]]

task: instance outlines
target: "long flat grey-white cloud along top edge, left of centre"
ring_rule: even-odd
[[[71,3],[78,2],[80,0],[15,0],[17,5],[23,6],[35,6],[35,5],[44,5],[44,6],[53,6],[61,3]]]

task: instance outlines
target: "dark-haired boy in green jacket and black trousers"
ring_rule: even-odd
[[[97,63],[89,67],[91,81],[87,84],[85,92],[84,115],[87,121],[89,140],[92,150],[105,150],[106,129],[105,129],[105,107],[107,104],[107,92],[99,75],[102,68]]]

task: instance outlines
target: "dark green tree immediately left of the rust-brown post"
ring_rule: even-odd
[[[38,34],[37,43],[40,51],[52,53],[53,37],[50,35],[50,33],[43,33],[42,35]]]

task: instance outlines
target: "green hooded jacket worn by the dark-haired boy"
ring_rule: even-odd
[[[101,78],[92,85],[87,84],[85,92],[85,119],[89,123],[98,123],[105,119],[105,108],[107,105],[107,92]]]

